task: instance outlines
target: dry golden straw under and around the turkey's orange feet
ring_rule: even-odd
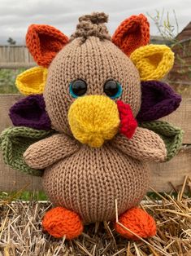
[[[124,239],[115,232],[113,223],[109,222],[86,226],[82,235],[74,241],[55,239],[41,230],[41,218],[52,206],[49,202],[41,203],[34,198],[28,203],[20,200],[11,202],[5,194],[4,199],[2,195],[0,200],[0,252],[6,256],[189,256],[190,191],[191,179],[186,177],[176,197],[171,193],[163,196],[158,194],[158,201],[145,196],[140,207],[154,216],[158,232],[156,236],[141,241]]]

